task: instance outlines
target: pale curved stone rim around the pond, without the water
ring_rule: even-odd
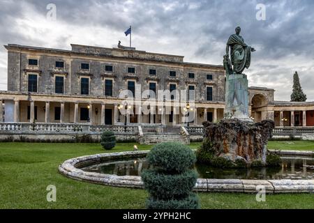
[[[89,164],[104,162],[106,160],[125,160],[146,157],[149,151],[104,153],[76,157],[66,160],[59,166],[63,176],[88,183],[107,185],[112,187],[127,187],[144,189],[140,176],[117,176],[83,171]],[[290,151],[291,153],[291,151]],[[299,152],[296,152],[299,155]],[[309,153],[306,155],[313,155]],[[278,193],[313,193],[314,180],[239,180],[239,179],[197,179],[194,190],[197,192],[241,192],[256,193],[256,187],[262,185],[269,194]]]

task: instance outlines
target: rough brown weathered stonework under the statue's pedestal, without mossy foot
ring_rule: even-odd
[[[267,143],[274,129],[274,121],[246,123],[237,118],[223,119],[220,123],[205,122],[204,128],[202,149],[214,157],[223,157],[232,162],[244,160],[247,164],[259,160],[266,164]]]

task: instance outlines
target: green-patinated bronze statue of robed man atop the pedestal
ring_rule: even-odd
[[[249,68],[251,65],[251,52],[255,52],[253,47],[249,47],[244,43],[244,38],[240,36],[241,28],[238,26],[235,29],[236,33],[232,34],[227,41],[226,54],[224,56],[224,67],[228,75],[230,75],[230,56],[229,48],[231,49],[231,63],[233,71],[236,74],[241,74],[245,68]]]

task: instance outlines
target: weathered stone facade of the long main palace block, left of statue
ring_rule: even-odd
[[[144,114],[135,111],[135,108],[128,114],[121,114],[119,105],[124,102],[124,98],[120,94],[128,89],[130,81],[137,84],[135,91],[140,93],[149,90],[150,83],[156,83],[157,92],[170,90],[170,84],[176,85],[178,91],[194,86],[195,101],[190,114],[195,118],[189,124],[202,125],[203,121],[209,120],[208,116],[211,116],[212,121],[223,118],[225,72],[222,66],[186,63],[184,56],[71,46],[72,50],[62,50],[6,45],[8,91],[0,92],[3,110],[6,111],[4,122],[88,123],[80,120],[81,109],[88,107],[90,123],[93,125],[119,125],[124,124],[125,119],[127,124],[184,124],[182,118],[185,115],[177,111],[174,105],[161,105],[165,104],[163,100],[156,101],[168,114],[160,113],[157,109]],[[37,63],[29,63],[30,59]],[[63,62],[63,68],[56,68],[56,61]],[[87,63],[89,68],[82,69],[82,63]],[[112,71],[106,71],[106,66],[112,66]],[[129,72],[128,68],[135,68],[135,72]],[[150,75],[149,70],[155,70],[156,75]],[[176,72],[176,77],[170,77],[170,71]],[[194,77],[189,77],[190,73]],[[37,77],[35,92],[29,92],[29,75]],[[63,93],[55,92],[56,77],[63,77]],[[81,94],[82,78],[89,79],[87,95]],[[107,79],[112,80],[110,96],[105,95]],[[212,89],[210,100],[207,100],[207,87]],[[54,114],[56,107],[60,108],[61,113],[57,119]],[[172,118],[171,111],[174,112]]]

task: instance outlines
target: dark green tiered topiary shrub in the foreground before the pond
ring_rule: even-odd
[[[192,192],[197,174],[191,168],[196,162],[195,153],[179,143],[154,146],[147,155],[154,169],[142,172],[144,186],[149,192],[149,209],[200,208],[197,195]]]

